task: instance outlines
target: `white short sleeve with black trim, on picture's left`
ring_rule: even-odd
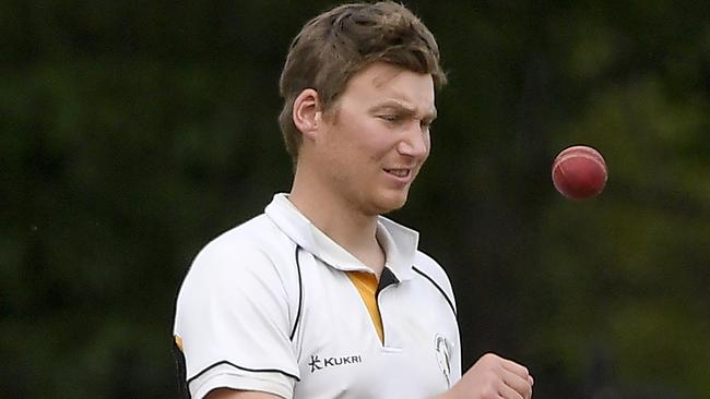
[[[292,398],[299,374],[291,306],[283,276],[262,250],[210,243],[188,271],[175,317],[191,397],[226,387]]]

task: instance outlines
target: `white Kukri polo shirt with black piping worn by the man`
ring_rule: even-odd
[[[191,398],[220,387],[283,398],[429,398],[461,376],[450,282],[418,234],[384,217],[380,340],[346,271],[371,271],[276,194],[194,259],[175,317]]]

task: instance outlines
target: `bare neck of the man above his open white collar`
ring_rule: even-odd
[[[379,276],[384,253],[376,238],[378,216],[355,208],[309,176],[296,171],[289,201],[313,226]]]

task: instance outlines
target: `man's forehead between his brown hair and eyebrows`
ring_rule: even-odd
[[[343,102],[367,105],[397,100],[422,112],[434,110],[434,78],[430,74],[387,63],[374,63],[355,74],[341,96]]]

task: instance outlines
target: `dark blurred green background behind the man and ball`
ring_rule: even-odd
[[[406,3],[450,85],[391,217],[452,279],[464,366],[710,398],[710,2]],[[0,3],[0,397],[177,397],[178,287],[288,191],[277,78],[332,4]],[[606,158],[597,198],[554,191],[572,144]]]

